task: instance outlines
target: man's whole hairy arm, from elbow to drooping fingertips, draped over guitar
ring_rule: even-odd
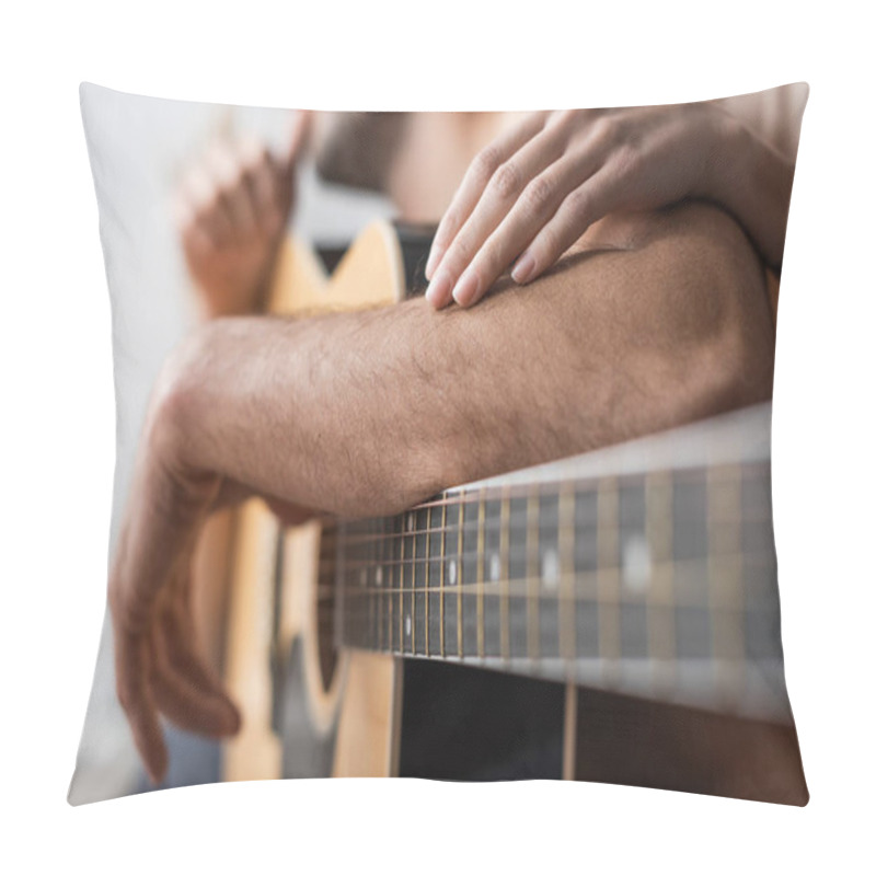
[[[289,520],[389,514],[771,394],[762,269],[719,210],[598,223],[532,290],[506,283],[472,311],[420,299],[215,321],[173,356],[110,583],[118,694],[154,780],[159,713],[239,727],[189,635],[191,555],[212,508],[261,495]]]

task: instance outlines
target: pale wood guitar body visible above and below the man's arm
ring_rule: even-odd
[[[397,238],[391,226],[378,222],[331,279],[311,250],[287,239],[268,309],[310,316],[387,307],[404,296]],[[400,661],[347,650],[331,656],[328,619],[318,606],[321,548],[319,521],[280,533],[258,500],[238,512],[226,676],[244,721],[224,747],[227,781],[397,773]],[[274,692],[278,677],[281,698]],[[284,728],[290,728],[285,746],[278,735]]]

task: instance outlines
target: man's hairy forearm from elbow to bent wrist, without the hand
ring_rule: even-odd
[[[729,219],[682,208],[595,233],[634,249],[572,255],[473,311],[414,300],[207,326],[158,402],[175,457],[298,505],[381,514],[770,394],[762,278]]]

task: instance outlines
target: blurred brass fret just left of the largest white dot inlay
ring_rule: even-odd
[[[607,684],[616,682],[621,656],[620,578],[618,569],[618,484],[600,480],[597,493],[597,590],[599,656]]]

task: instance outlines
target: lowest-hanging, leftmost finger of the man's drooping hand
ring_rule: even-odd
[[[130,635],[116,627],[114,645],[118,701],[146,771],[158,784],[168,770],[168,749],[149,687],[149,637]]]

